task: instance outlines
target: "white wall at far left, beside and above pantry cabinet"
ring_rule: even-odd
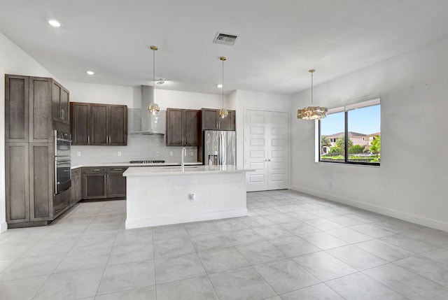
[[[5,200],[5,74],[52,77],[43,66],[0,34],[0,232],[6,230]]]

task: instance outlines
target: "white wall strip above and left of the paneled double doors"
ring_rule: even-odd
[[[237,167],[244,168],[244,110],[256,108],[271,111],[290,111],[291,97],[283,94],[270,94],[237,90],[229,96],[229,102],[237,110]]]

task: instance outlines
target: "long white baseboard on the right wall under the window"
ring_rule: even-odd
[[[430,219],[428,217],[421,217],[420,215],[413,215],[410,213],[405,213],[400,210],[385,208],[383,206],[375,206],[375,205],[372,205],[369,203],[364,203],[364,202],[353,200],[353,199],[337,197],[332,194],[316,192],[314,190],[308,190],[305,187],[291,187],[291,190],[295,190],[297,192],[302,192],[305,194],[310,194],[310,195],[316,196],[316,197],[321,197],[323,199],[328,199],[330,201],[335,201],[338,203],[344,203],[349,206],[354,206],[356,208],[369,210],[373,213],[380,213],[381,215],[387,215],[388,217],[395,217],[397,219],[404,220],[407,222],[412,222],[412,223],[420,224],[420,225],[423,225],[426,227],[431,227],[434,229],[439,229],[439,230],[448,232],[448,223],[447,222],[437,221],[437,220]]]

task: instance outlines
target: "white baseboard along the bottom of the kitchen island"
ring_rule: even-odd
[[[151,217],[148,219],[129,220],[126,219],[126,229],[153,227],[169,224],[181,224],[189,222],[200,222],[208,220],[227,219],[229,217],[244,217],[247,209],[225,210],[212,213],[197,213],[194,215],[170,215],[167,217]]]

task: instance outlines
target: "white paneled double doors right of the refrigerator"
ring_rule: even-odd
[[[246,110],[244,120],[248,192],[288,188],[289,113]]]

